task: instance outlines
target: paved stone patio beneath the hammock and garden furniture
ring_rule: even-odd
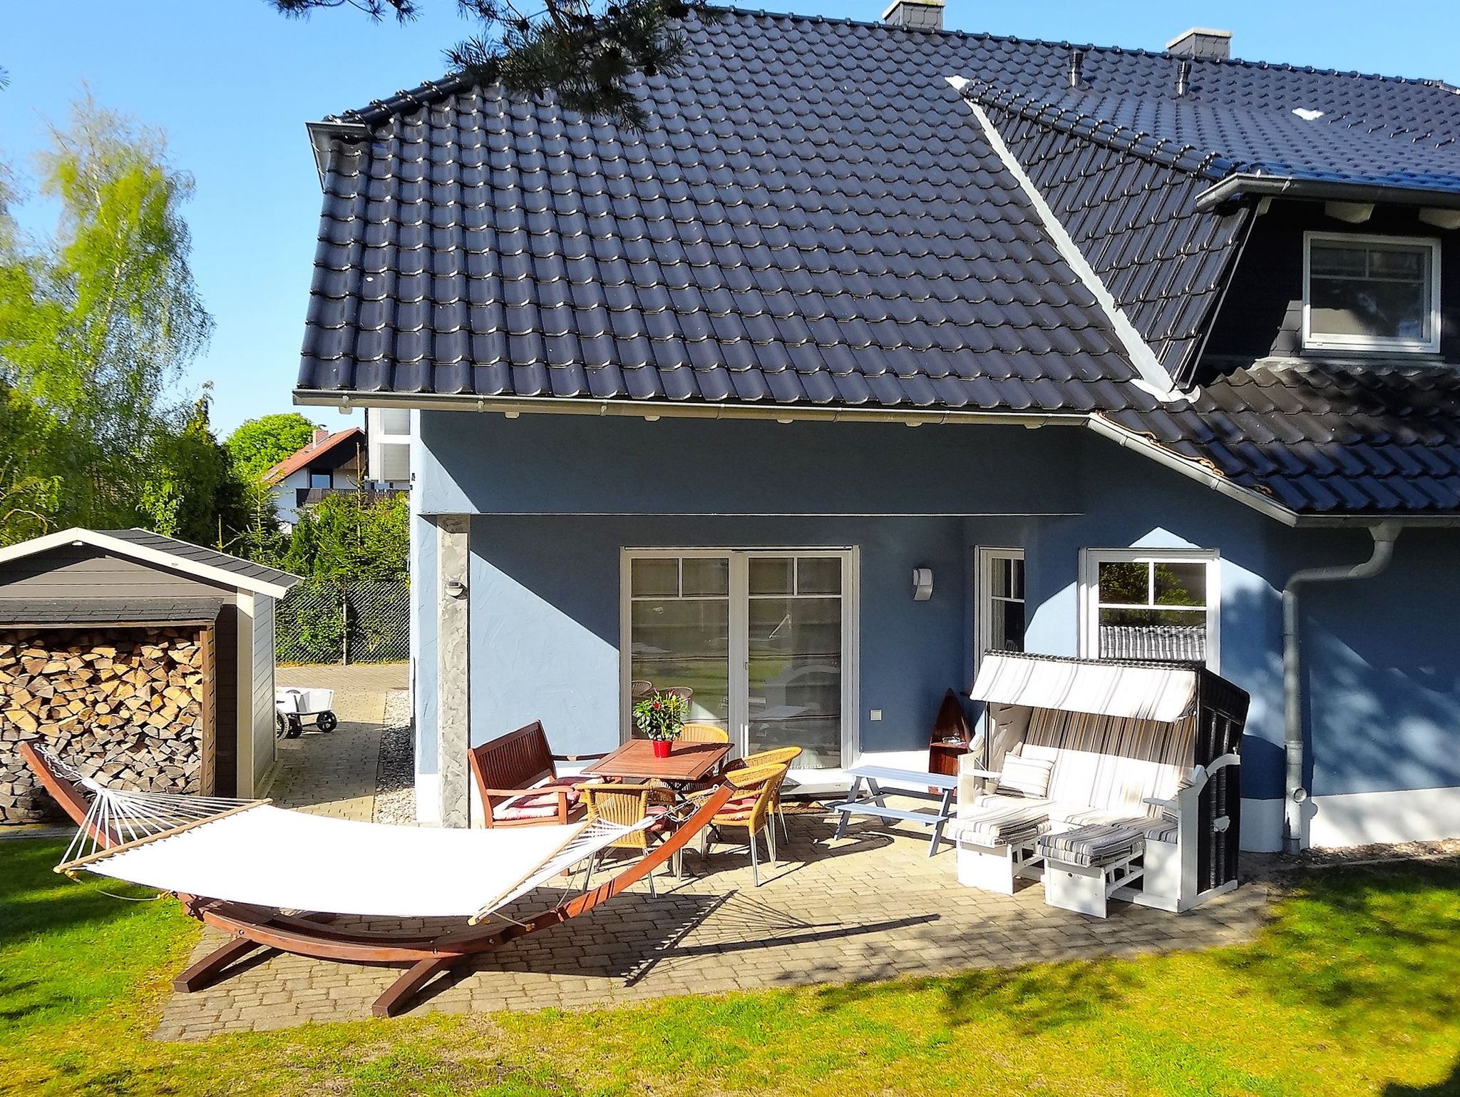
[[[583,1008],[1200,949],[1245,941],[1266,917],[1266,888],[1248,884],[1188,914],[1115,904],[1099,922],[1045,907],[1038,885],[1012,897],[959,887],[952,849],[929,859],[921,828],[894,836],[869,822],[829,843],[834,822],[822,812],[793,815],[790,827],[761,888],[743,852],[717,847],[708,862],[689,853],[694,875],[660,876],[657,898],[638,884],[583,919],[479,957],[429,987],[415,1012]],[[199,955],[219,941],[210,932]],[[207,990],[174,995],[156,1034],[368,1017],[394,974],[270,955]]]

